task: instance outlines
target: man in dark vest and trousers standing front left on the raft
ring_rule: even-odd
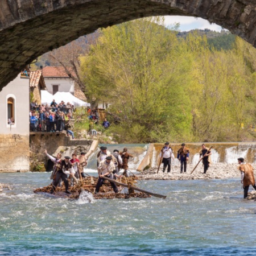
[[[55,179],[53,180],[53,183],[52,183],[51,194],[55,191],[60,179],[64,181],[65,192],[67,194],[71,194],[71,192],[68,191],[68,174],[72,171],[72,164],[69,161],[69,159],[70,159],[70,156],[64,156],[64,160],[61,161],[60,168],[56,170]]]

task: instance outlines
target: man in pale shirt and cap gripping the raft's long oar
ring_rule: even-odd
[[[95,193],[100,191],[100,187],[104,184],[103,177],[108,177],[109,179],[113,179],[114,176],[119,177],[117,174],[114,174],[115,165],[112,161],[112,156],[107,156],[105,160],[102,160],[98,165],[98,182],[96,184]],[[118,193],[118,188],[115,183],[110,182],[111,187],[113,188],[115,193]]]

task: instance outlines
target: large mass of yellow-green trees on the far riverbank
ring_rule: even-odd
[[[91,103],[110,105],[119,143],[253,141],[255,60],[228,32],[183,36],[155,17],[98,31],[79,68]]]

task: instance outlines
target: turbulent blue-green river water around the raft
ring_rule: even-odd
[[[139,181],[166,200],[33,193],[50,182],[1,174],[13,190],[0,193],[0,255],[255,255],[256,205],[239,179]]]

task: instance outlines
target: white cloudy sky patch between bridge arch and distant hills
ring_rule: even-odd
[[[190,16],[165,16],[166,26],[170,26],[174,23],[180,23],[181,31],[189,31],[195,28],[200,30],[204,30],[205,28],[209,28],[214,31],[221,31],[221,27],[215,23],[210,24],[208,20],[202,18],[195,18]]]

